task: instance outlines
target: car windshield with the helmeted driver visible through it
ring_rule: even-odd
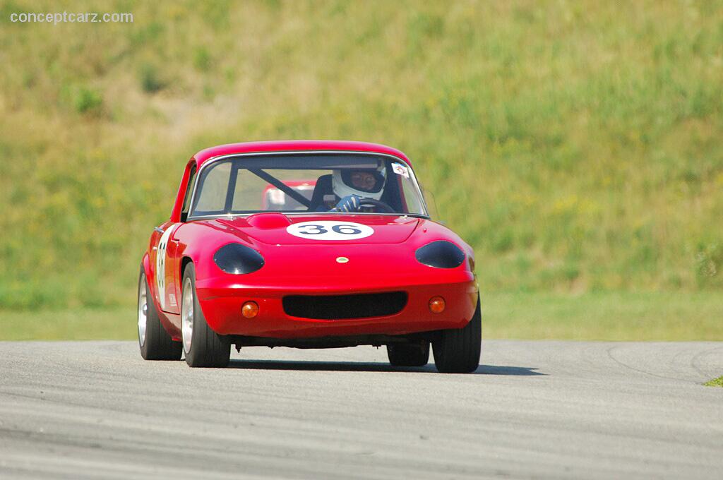
[[[249,155],[201,168],[189,218],[260,212],[427,216],[414,172],[386,155]]]

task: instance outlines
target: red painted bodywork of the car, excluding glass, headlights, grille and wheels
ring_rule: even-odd
[[[361,142],[254,142],[221,145],[202,150],[187,164],[171,220],[161,225],[165,236],[152,234],[143,265],[164,327],[180,339],[179,299],[181,268],[193,262],[200,306],[213,330],[223,335],[272,338],[315,338],[335,335],[407,333],[461,328],[474,314],[477,285],[474,253],[445,226],[407,215],[330,215],[260,213],[247,217],[180,222],[189,173],[210,158],[232,153],[286,150],[354,150],[385,153],[408,159],[390,147]],[[373,229],[362,239],[320,241],[291,235],[286,228],[309,220],[361,223]],[[166,243],[163,244],[163,240]],[[435,268],[419,263],[414,252],[431,241],[457,244],[466,259],[455,268]],[[216,250],[228,243],[256,249],[265,265],[254,273],[224,273],[213,261]],[[163,251],[165,262],[157,254]],[[340,263],[337,257],[347,257]],[[163,273],[157,272],[163,267]],[[159,282],[158,275],[163,275]],[[404,291],[406,306],[398,314],[347,320],[309,320],[288,316],[282,307],[289,294],[339,295]],[[442,296],[447,309],[429,311],[429,299]],[[244,301],[259,304],[257,317],[241,316]]]

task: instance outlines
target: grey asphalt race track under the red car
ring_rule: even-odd
[[[485,340],[475,374],[383,349],[0,343],[0,478],[721,478],[723,343]]]

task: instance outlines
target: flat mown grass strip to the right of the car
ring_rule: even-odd
[[[723,340],[723,294],[482,292],[484,338]]]

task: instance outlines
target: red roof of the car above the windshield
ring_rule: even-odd
[[[200,168],[206,161],[235,153],[297,152],[303,150],[330,150],[341,152],[383,153],[401,158],[411,166],[409,159],[396,148],[378,143],[350,142],[348,140],[275,140],[273,142],[228,143],[206,148],[193,155]]]

